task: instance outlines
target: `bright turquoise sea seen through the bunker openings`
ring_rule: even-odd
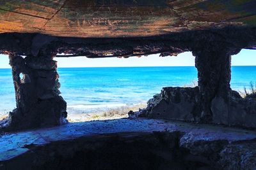
[[[197,80],[195,67],[59,68],[61,96],[74,108],[92,108],[146,102],[162,87],[188,87]],[[231,87],[243,90],[256,81],[256,66],[233,66]],[[11,69],[0,69],[0,114],[15,108]]]

